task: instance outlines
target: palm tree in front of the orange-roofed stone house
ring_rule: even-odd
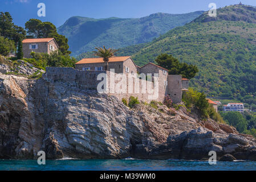
[[[95,49],[97,49],[97,51],[92,51],[94,52],[95,56],[99,56],[102,57],[104,62],[105,62],[105,70],[108,70],[108,61],[110,57],[114,56],[114,53],[118,50],[115,49],[106,49],[105,46],[103,46],[103,48],[101,47],[95,47]]]

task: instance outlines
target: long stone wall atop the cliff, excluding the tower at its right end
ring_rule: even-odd
[[[111,84],[110,82],[110,77],[115,76],[117,77],[119,74],[118,73],[111,73],[109,71],[80,71],[78,69],[74,68],[56,68],[56,67],[47,67],[46,68],[46,75],[45,77],[47,78],[48,81],[55,82],[55,81],[63,81],[67,82],[68,84],[71,84],[73,86],[78,86],[80,89],[97,89],[97,86],[100,84],[101,80],[97,80],[97,76],[100,73],[105,73],[108,77],[108,94],[116,96],[120,100],[122,98],[127,98],[134,96],[138,97],[140,101],[151,101],[151,100],[156,100],[156,101],[163,101],[162,96],[159,96],[157,98],[151,96],[151,94],[148,91],[147,86],[150,85],[151,88],[153,88],[154,84],[153,82],[150,81],[145,81],[141,80],[136,77],[136,75],[132,79],[132,89],[129,89],[128,86],[128,75],[124,74],[124,77],[127,79],[126,82],[122,81],[121,78],[115,80],[115,86]],[[143,84],[142,84],[143,82]],[[138,87],[135,85],[139,85]],[[142,85],[142,86],[141,86]],[[112,87],[111,87],[112,86]],[[124,87],[123,87],[124,86]],[[111,87],[111,88],[110,88]],[[103,86],[104,88],[104,86]],[[114,89],[113,89],[114,88]],[[111,90],[112,89],[112,90]],[[120,90],[123,89],[123,92]],[[144,90],[145,89],[145,90]],[[144,90],[145,92],[142,92]],[[150,90],[151,91],[151,90]],[[120,92],[120,93],[117,93]]]

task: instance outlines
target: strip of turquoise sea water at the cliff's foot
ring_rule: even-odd
[[[0,170],[17,171],[183,171],[183,170],[256,170],[256,162],[208,162],[187,160],[46,160],[39,166],[36,160],[0,160]]]

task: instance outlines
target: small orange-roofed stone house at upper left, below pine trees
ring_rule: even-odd
[[[22,41],[23,56],[30,57],[31,52],[48,53],[59,49],[54,38],[25,39]]]

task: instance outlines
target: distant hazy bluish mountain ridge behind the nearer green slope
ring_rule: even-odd
[[[204,11],[187,14],[156,13],[143,18],[93,19],[74,16],[58,28],[68,38],[72,55],[94,50],[96,46],[121,48],[147,43],[170,29],[183,26]]]

